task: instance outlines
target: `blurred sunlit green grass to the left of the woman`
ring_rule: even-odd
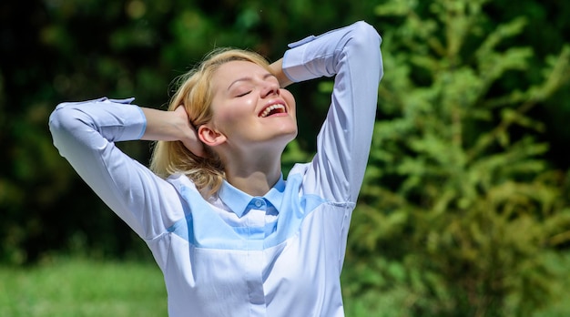
[[[58,259],[0,267],[0,316],[167,316],[156,264]]]

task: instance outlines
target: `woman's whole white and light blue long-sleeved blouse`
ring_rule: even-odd
[[[147,242],[164,273],[170,316],[343,316],[341,268],[372,140],[381,38],[357,22],[290,45],[299,82],[335,76],[316,156],[263,197],[224,182],[200,196],[185,176],[161,179],[114,142],[141,138],[133,98],[63,103],[49,126],[77,173]]]

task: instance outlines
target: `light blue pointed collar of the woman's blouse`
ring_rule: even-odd
[[[281,201],[283,200],[283,191],[285,190],[285,180],[283,180],[283,174],[281,174],[280,179],[273,185],[267,194],[263,195],[263,199],[270,202],[271,205],[279,212]],[[248,210],[249,202],[251,199],[255,199],[249,194],[236,189],[228,181],[224,180],[218,191],[218,196],[221,201],[223,201],[230,210],[236,213],[239,218]]]

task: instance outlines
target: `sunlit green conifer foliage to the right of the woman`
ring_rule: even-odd
[[[383,34],[387,119],[352,221],[347,265],[357,269],[345,291],[387,294],[398,315],[530,315],[561,281],[570,179],[548,165],[545,125],[527,114],[567,85],[570,46],[541,66],[540,82],[494,89],[529,70],[533,48],[501,46],[525,20],[491,29],[485,3],[375,10],[402,23]]]

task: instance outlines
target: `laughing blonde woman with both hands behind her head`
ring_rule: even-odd
[[[171,316],[342,316],[340,274],[370,150],[380,36],[364,22],[309,36],[268,65],[213,53],[169,111],[100,98],[56,107],[61,155],[147,242]],[[291,82],[335,76],[317,154],[287,180]],[[189,118],[189,119],[188,119]],[[114,142],[157,140],[151,169]]]

